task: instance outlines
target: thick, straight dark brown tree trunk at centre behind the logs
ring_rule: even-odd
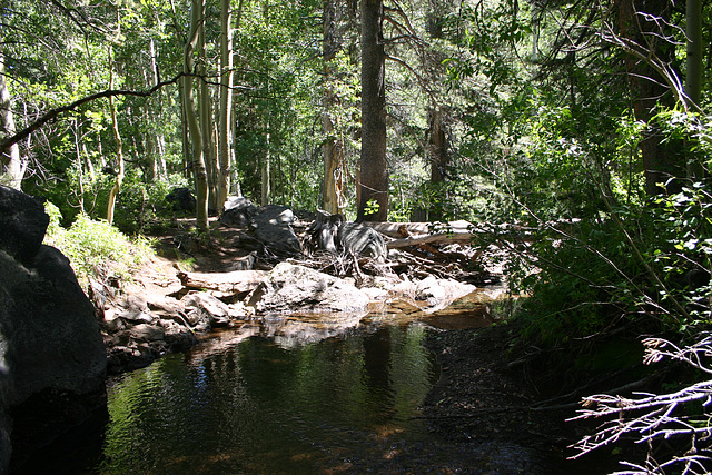
[[[357,220],[388,218],[383,1],[362,0],[362,146]]]

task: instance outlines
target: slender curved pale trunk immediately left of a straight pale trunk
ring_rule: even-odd
[[[205,0],[191,0],[190,6],[190,34],[184,48],[182,70],[186,76],[182,77],[184,89],[184,110],[188,131],[192,145],[191,166],[196,181],[196,227],[199,231],[208,230],[208,174],[205,167],[205,155],[202,148],[202,131],[198,122],[198,115],[195,109],[195,99],[192,93],[192,53],[198,43],[198,30],[202,28],[205,11]]]

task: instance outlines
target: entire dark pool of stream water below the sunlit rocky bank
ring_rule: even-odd
[[[449,444],[416,417],[438,377],[428,326],[490,325],[485,298],[432,315],[402,305],[362,324],[273,317],[216,334],[112,379],[108,414],[23,472],[552,473],[541,454]]]

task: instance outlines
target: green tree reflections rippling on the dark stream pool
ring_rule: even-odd
[[[394,439],[426,434],[411,419],[434,377],[424,336],[382,327],[294,348],[254,336],[162,358],[110,388],[96,471],[315,473],[383,459]]]

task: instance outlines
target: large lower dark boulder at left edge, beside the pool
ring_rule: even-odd
[[[0,253],[2,305],[0,338],[10,345],[12,404],[47,388],[83,394],[103,385],[106,350],[93,306],[69,259],[41,246],[33,268]]]

